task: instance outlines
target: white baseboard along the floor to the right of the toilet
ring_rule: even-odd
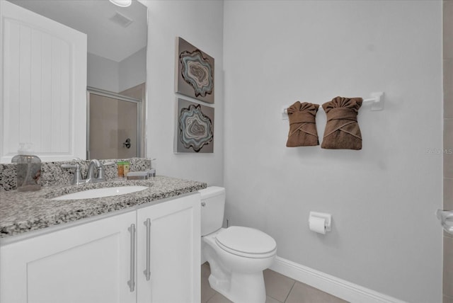
[[[276,257],[271,270],[315,287],[323,292],[352,303],[406,303],[400,299],[369,290],[368,288],[333,277],[284,258]]]

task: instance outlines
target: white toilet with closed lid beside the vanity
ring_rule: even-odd
[[[202,255],[210,263],[210,286],[234,303],[264,303],[263,270],[275,259],[275,240],[250,227],[222,228],[225,188],[212,186],[199,192]]]

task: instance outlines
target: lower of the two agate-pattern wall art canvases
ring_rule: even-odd
[[[214,152],[214,108],[177,98],[176,153]]]

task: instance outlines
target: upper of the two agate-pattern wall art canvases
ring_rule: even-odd
[[[176,93],[214,103],[214,58],[179,37],[176,50]]]

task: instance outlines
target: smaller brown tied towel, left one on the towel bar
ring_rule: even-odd
[[[289,134],[287,147],[311,147],[319,145],[316,131],[316,112],[319,105],[297,101],[287,109]]]

